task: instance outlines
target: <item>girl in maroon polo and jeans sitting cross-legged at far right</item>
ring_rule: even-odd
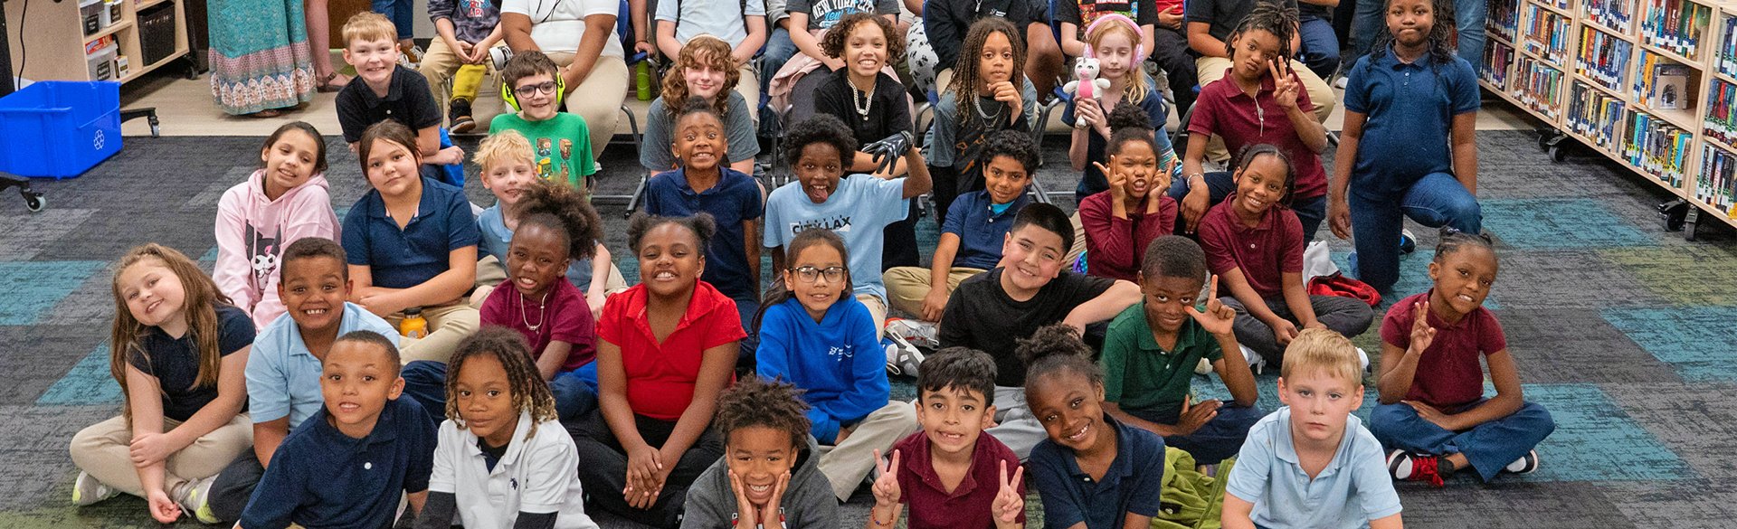
[[[1496,284],[1485,236],[1445,231],[1430,262],[1435,286],[1393,304],[1381,321],[1381,406],[1369,428],[1391,449],[1395,479],[1442,479],[1468,467],[1485,482],[1537,470],[1537,447],[1556,421],[1527,402],[1508,338],[1483,298]],[[1480,359],[1496,397],[1483,397]]]

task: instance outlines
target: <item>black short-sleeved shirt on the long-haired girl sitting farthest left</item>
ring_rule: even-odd
[[[200,354],[191,330],[177,340],[149,328],[139,336],[139,345],[144,352],[129,354],[127,364],[156,376],[163,390],[163,416],[186,421],[217,399],[217,385],[193,387],[200,376]],[[248,345],[254,345],[254,319],[241,309],[217,305],[217,354],[229,356]]]

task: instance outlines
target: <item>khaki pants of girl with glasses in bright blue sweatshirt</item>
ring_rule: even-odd
[[[832,494],[839,501],[851,498],[856,486],[868,477],[877,463],[874,460],[874,451],[882,454],[891,451],[893,444],[915,434],[922,427],[917,425],[917,406],[903,401],[886,402],[881,409],[875,409],[860,423],[856,430],[851,430],[844,442],[832,447],[820,447],[820,473],[832,482]],[[888,454],[889,456],[889,454]]]

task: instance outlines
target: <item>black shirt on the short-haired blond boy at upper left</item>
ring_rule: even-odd
[[[361,78],[337,92],[337,123],[344,128],[346,142],[361,140],[368,125],[386,120],[405,123],[410,132],[438,127],[439,104],[434,102],[434,92],[429,92],[427,78],[400,64],[393,68],[386,97],[375,95]]]

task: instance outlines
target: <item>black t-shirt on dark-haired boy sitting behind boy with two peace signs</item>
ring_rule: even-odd
[[[997,267],[976,274],[947,300],[941,312],[941,347],[971,347],[995,357],[995,385],[1023,387],[1025,361],[1014,354],[1020,338],[1032,336],[1037,328],[1058,323],[1075,307],[1103,295],[1115,279],[1093,278],[1063,271],[1030,300],[1016,302],[1001,290]]]

